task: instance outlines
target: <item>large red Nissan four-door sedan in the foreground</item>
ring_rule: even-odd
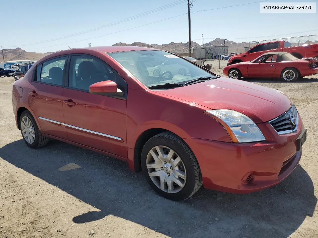
[[[154,76],[163,62],[189,73]],[[202,184],[234,193],[273,186],[296,168],[306,140],[283,93],[219,77],[162,50],[59,51],[35,63],[12,90],[17,128],[29,147],[53,138],[124,160],[171,200]]]

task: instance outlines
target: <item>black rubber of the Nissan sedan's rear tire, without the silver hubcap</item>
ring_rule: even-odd
[[[32,143],[29,143],[28,141],[26,141],[26,139],[23,136],[21,123],[22,123],[22,119],[24,117],[28,117],[33,124],[35,138],[34,138],[34,142],[32,142]],[[43,147],[49,142],[49,138],[42,135],[42,133],[40,132],[40,130],[38,128],[37,123],[35,122],[33,116],[31,115],[31,113],[29,111],[26,110],[26,111],[22,112],[22,114],[19,118],[19,125],[20,125],[20,131],[21,131],[22,138],[23,138],[24,142],[27,144],[27,146],[35,149],[35,148]]]

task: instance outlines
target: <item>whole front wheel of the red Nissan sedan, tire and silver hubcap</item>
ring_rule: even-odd
[[[159,156],[158,150],[162,152],[162,157]],[[169,160],[167,156],[170,154],[172,156]],[[153,155],[158,156],[157,162]],[[150,187],[167,199],[173,201],[187,199],[202,186],[202,175],[196,157],[190,148],[172,133],[160,133],[146,142],[142,149],[141,165],[142,173]],[[156,174],[150,177],[151,173]]]

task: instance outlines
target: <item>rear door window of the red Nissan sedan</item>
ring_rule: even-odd
[[[45,61],[37,66],[36,81],[63,85],[63,70],[67,56]]]

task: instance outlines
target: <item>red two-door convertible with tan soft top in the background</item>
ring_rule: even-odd
[[[287,52],[268,52],[250,62],[231,64],[223,69],[229,78],[282,78],[294,82],[298,78],[318,74],[316,58],[298,59]]]

